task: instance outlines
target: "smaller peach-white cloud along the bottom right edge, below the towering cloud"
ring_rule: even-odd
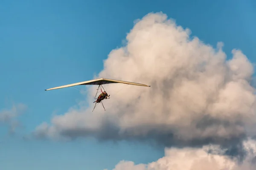
[[[120,161],[113,170],[255,170],[256,142],[243,143],[248,152],[243,162],[221,154],[218,146],[166,148],[165,156],[149,164]],[[209,150],[216,151],[209,152]]]

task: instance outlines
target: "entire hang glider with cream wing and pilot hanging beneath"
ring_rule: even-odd
[[[145,87],[150,87],[150,85],[144,85],[144,84],[140,84],[140,83],[136,83],[136,82],[126,82],[126,81],[121,81],[121,80],[115,80],[115,79],[105,79],[105,78],[100,78],[100,79],[93,79],[93,80],[89,80],[89,81],[84,81],[84,82],[77,82],[77,83],[73,83],[73,84],[69,84],[69,85],[62,85],[62,86],[58,86],[58,87],[55,87],[55,88],[49,88],[49,89],[46,89],[45,91],[49,91],[49,90],[55,90],[55,89],[59,89],[59,88],[67,88],[67,87],[73,87],[73,86],[76,86],[76,85],[99,85],[98,89],[97,89],[97,92],[96,92],[96,95],[99,93],[99,88],[101,89],[101,94],[98,96],[98,98],[96,98],[96,95],[95,95],[95,98],[96,99],[96,103],[94,105],[94,108],[93,110],[95,109],[96,105],[101,103],[104,110],[105,110],[105,107],[102,103],[102,100],[103,99],[110,99],[110,95],[108,95],[108,93],[105,91],[105,89],[103,88],[102,85],[106,85],[106,84],[113,84],[113,83],[122,83],[122,84],[128,84],[128,85],[139,85],[139,86],[145,86]],[[102,91],[102,88],[104,89],[104,91]],[[94,102],[93,102],[94,103]]]

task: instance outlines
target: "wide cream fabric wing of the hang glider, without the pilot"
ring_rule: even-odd
[[[115,80],[115,79],[100,78],[100,79],[88,80],[85,82],[77,82],[77,83],[73,83],[73,84],[69,84],[69,85],[62,85],[62,86],[58,86],[55,88],[49,88],[49,89],[46,89],[45,91],[54,90],[54,89],[58,89],[58,88],[67,88],[67,87],[72,87],[72,86],[76,86],[76,85],[105,85],[105,84],[111,84],[111,83],[123,83],[123,84],[128,84],[128,85],[139,85],[139,86],[150,87],[150,85],[144,85],[144,84],[140,84],[140,83],[136,83],[136,82],[126,82],[126,81]]]

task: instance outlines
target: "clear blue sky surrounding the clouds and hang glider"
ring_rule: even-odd
[[[50,93],[44,89],[93,79],[103,68],[102,60],[122,45],[134,20],[159,11],[205,43],[224,42],[228,57],[239,48],[255,62],[253,0],[1,1],[0,110],[14,103],[23,103],[27,110],[18,117],[23,126],[15,135],[1,126],[0,169],[103,170],[122,159],[148,163],[162,157],[163,148],[141,143],[22,139],[83,99],[73,88]]]

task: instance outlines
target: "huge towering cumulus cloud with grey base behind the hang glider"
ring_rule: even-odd
[[[125,46],[111,51],[97,77],[151,87],[106,85],[111,94],[104,101],[106,111],[99,105],[94,112],[97,87],[90,87],[89,108],[79,105],[54,116],[51,124],[36,128],[35,136],[150,140],[167,147],[212,143],[241,152],[241,142],[256,120],[250,83],[254,68],[242,51],[234,49],[227,60],[222,42],[214,48],[190,37],[189,29],[162,13],[137,20],[126,40]]]

